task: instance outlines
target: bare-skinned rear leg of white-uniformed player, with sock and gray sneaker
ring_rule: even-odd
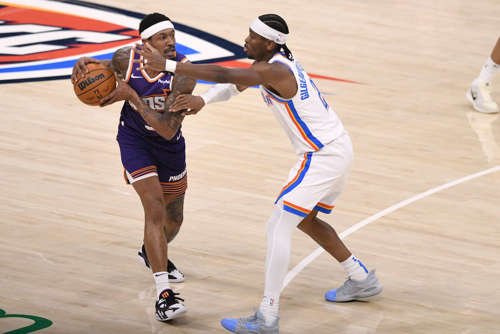
[[[349,279],[342,286],[326,292],[325,299],[329,301],[349,301],[380,293],[382,285],[375,276],[375,269],[368,272],[368,269],[361,261],[347,249],[333,227],[316,217],[316,214],[317,211],[312,210],[300,221],[297,227],[339,261],[349,275]]]

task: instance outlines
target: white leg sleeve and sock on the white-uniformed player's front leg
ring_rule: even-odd
[[[279,294],[290,262],[291,233],[301,220],[302,217],[283,210],[283,202],[280,200],[265,226],[265,288],[259,310],[267,325],[278,315]]]

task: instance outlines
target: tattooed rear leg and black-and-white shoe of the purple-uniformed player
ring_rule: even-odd
[[[165,205],[165,219],[163,222],[163,233],[167,243],[172,241],[180,230],[183,221],[184,194],[167,195],[163,194],[163,203]],[[139,249],[137,254],[139,260],[150,268],[147,252],[144,245]],[[167,260],[168,281],[170,283],[179,283],[184,281],[184,275],[177,270],[175,265]]]

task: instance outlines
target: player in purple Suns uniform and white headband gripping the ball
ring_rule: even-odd
[[[146,15],[140,21],[139,33],[142,42],[154,45],[166,59],[188,62],[183,54],[175,51],[175,31],[165,15]],[[71,82],[87,72],[86,63],[102,62],[135,90],[127,98],[111,93],[101,100],[100,106],[125,99],[116,140],[125,181],[132,184],[144,208],[144,244],[138,256],[153,271],[157,293],[155,317],[165,321],[187,311],[179,302],[183,299],[177,298],[178,293],[173,293],[169,285],[169,282],[183,281],[184,276],[167,259],[167,243],[182,224],[187,174],[180,130],[184,116],[164,110],[168,110],[178,95],[191,93],[196,80],[161,71],[139,70],[140,65],[133,63],[133,59],[142,57],[131,46],[118,49],[110,60],[82,57],[73,67]],[[118,78],[118,81],[121,80]]]

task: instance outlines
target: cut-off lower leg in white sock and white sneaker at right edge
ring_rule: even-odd
[[[470,84],[467,90],[466,97],[472,103],[475,110],[484,113],[498,112],[498,105],[491,98],[491,82],[500,68],[500,38],[497,40],[496,45],[488,57],[484,66]]]

